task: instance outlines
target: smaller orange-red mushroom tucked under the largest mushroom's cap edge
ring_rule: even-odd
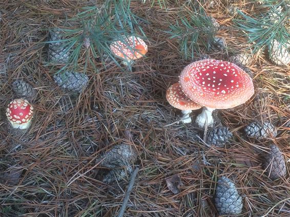
[[[180,121],[183,123],[191,123],[191,117],[189,115],[192,110],[198,110],[202,107],[184,95],[181,91],[179,83],[175,83],[170,86],[166,92],[166,98],[169,104],[181,110],[183,117]]]

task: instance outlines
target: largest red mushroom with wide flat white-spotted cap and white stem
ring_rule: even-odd
[[[213,124],[215,109],[232,108],[243,104],[254,94],[250,76],[234,63],[203,59],[189,64],[179,77],[185,96],[203,106],[196,118],[200,127]]]

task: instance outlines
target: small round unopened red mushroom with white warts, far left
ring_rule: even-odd
[[[31,125],[33,107],[26,99],[14,99],[8,105],[6,116],[13,128],[27,129]]]

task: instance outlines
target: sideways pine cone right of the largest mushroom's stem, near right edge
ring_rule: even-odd
[[[254,137],[257,139],[267,138],[271,135],[276,137],[277,129],[271,122],[268,121],[264,122],[263,124],[259,122],[253,122],[245,127],[245,134],[248,137]]]

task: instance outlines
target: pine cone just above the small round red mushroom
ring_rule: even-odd
[[[19,98],[32,100],[36,96],[36,91],[29,83],[22,80],[16,80],[12,83],[13,91]]]

